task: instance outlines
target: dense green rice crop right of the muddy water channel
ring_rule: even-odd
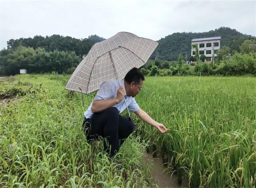
[[[194,187],[256,186],[256,79],[147,77],[136,101],[170,131],[137,119],[138,134],[160,149]]]

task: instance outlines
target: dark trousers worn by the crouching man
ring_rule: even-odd
[[[94,113],[90,119],[84,119],[83,129],[88,141],[98,139],[99,136],[106,138],[109,145],[104,147],[109,152],[111,146],[112,157],[119,151],[124,139],[134,130],[134,123],[129,118],[119,116],[117,108],[111,107]]]

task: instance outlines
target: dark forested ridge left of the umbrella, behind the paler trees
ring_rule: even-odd
[[[58,51],[75,51],[76,55],[82,57],[83,54],[88,53],[92,45],[103,40],[105,39],[97,35],[90,35],[88,39],[76,39],[69,36],[64,37],[62,35],[51,35],[46,37],[36,35],[33,38],[10,39],[7,41],[7,48],[11,50],[22,45],[34,49],[41,47],[44,48],[46,52],[54,51],[55,49],[58,49]]]

